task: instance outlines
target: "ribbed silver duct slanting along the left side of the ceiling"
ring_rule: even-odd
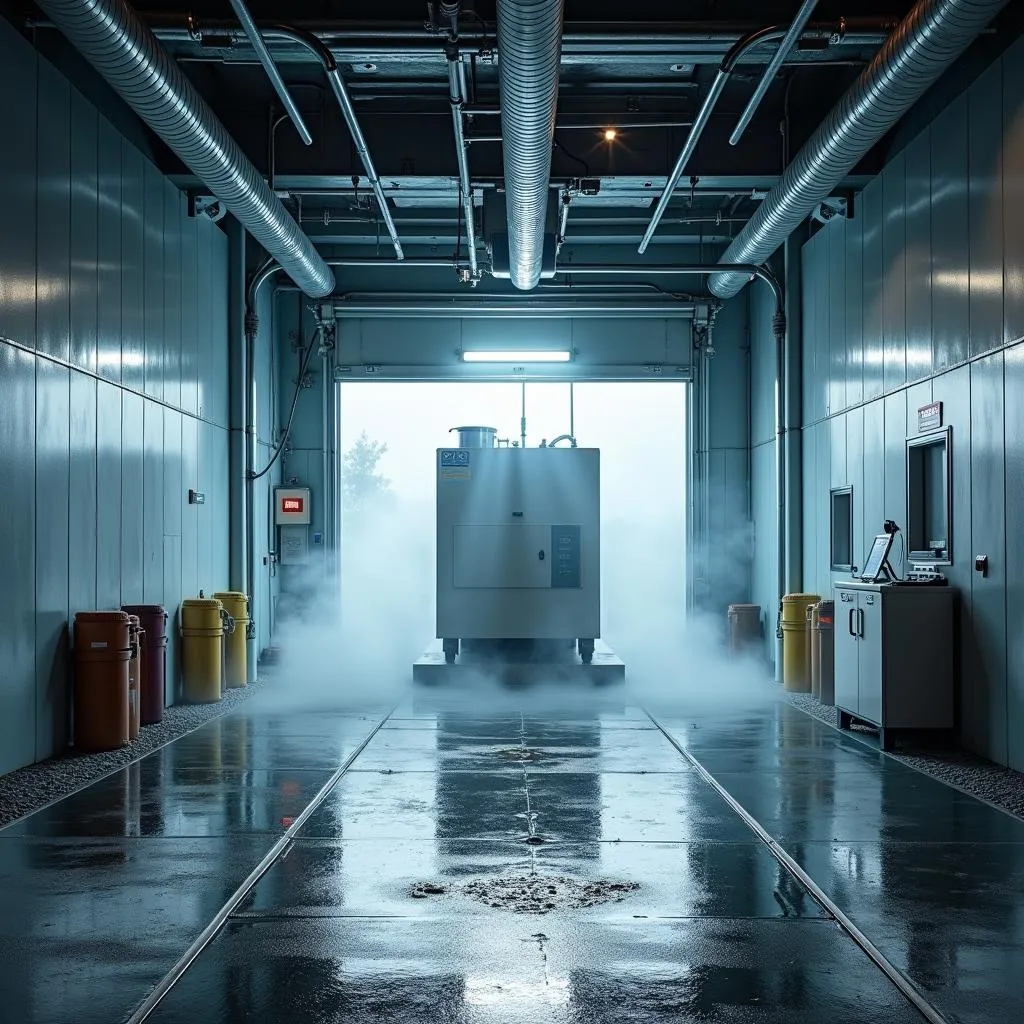
[[[40,7],[306,295],[334,291],[313,244],[127,3],[43,0]]]

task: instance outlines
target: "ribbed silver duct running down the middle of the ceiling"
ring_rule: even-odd
[[[509,263],[522,291],[541,280],[563,12],[564,0],[498,0]]]

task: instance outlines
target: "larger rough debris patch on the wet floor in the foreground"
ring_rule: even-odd
[[[461,893],[477,903],[515,913],[551,913],[575,910],[602,903],[622,902],[640,886],[636,882],[582,882],[545,874],[518,878],[475,879],[462,886],[420,883],[410,890],[414,899]]]

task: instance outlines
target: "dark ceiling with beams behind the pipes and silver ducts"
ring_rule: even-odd
[[[664,261],[669,247],[699,247],[702,258],[714,260],[910,6],[877,3],[820,0],[805,41],[731,145],[729,135],[777,43],[746,51],[644,258]],[[500,117],[486,113],[498,106],[500,54],[494,0],[462,6],[455,45],[465,62],[469,106],[480,112],[466,117],[465,132],[485,264],[486,199],[503,181]],[[640,259],[637,245],[651,209],[723,57],[754,30],[787,28],[797,6],[797,0],[566,0],[551,177],[556,206],[559,195],[571,191],[567,257],[596,246],[602,257]],[[391,249],[323,67],[274,26],[313,32],[337,60],[407,256],[452,256],[457,243],[464,249],[445,55],[453,44],[446,22],[431,25],[426,2],[252,0],[249,9],[312,135],[309,145],[283,114],[228,0],[143,0],[135,7],[327,255],[387,257]],[[30,24],[37,38],[45,35],[31,15]],[[608,129],[615,132],[611,141]],[[173,154],[151,142],[164,169],[202,195]],[[884,156],[885,141],[837,195],[861,186]],[[595,257],[595,250],[587,252],[588,261]]]

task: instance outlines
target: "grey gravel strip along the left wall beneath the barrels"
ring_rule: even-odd
[[[158,746],[198,729],[201,725],[226,715],[255,696],[265,686],[265,680],[227,690],[217,703],[175,705],[164,711],[164,720],[157,725],[144,725],[138,739],[117,751],[104,754],[63,754],[19,768],[0,776],[0,827],[25,817],[40,807],[67,797],[132,761],[137,761]]]

